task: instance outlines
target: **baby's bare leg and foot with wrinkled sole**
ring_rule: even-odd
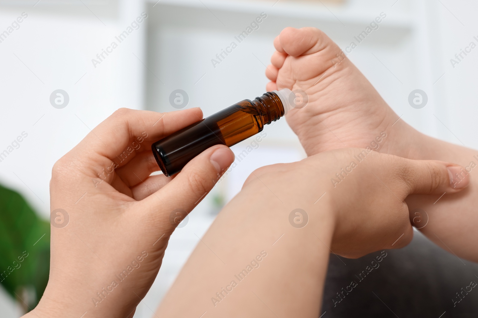
[[[381,132],[387,133],[380,153],[409,159],[442,160],[467,168],[456,182],[470,174],[471,184],[460,194],[412,195],[410,210],[428,215],[421,228],[428,238],[446,251],[478,261],[477,240],[478,152],[428,137],[398,120],[399,116],[340,51],[326,34],[315,28],[286,28],[274,40],[276,51],[266,76],[267,90],[301,89],[309,98],[303,109],[293,109],[287,122],[298,135],[308,155],[343,147],[367,147]],[[398,121],[397,121],[398,120]],[[473,164],[472,164],[473,162]],[[435,204],[436,200],[440,200]],[[411,221],[416,215],[410,215]],[[420,226],[417,226],[420,227]]]

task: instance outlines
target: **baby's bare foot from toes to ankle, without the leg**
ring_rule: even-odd
[[[370,148],[408,157],[416,132],[399,119],[380,94],[326,34],[286,28],[266,76],[267,90],[303,90],[308,104],[292,109],[287,122],[308,155],[342,147]],[[396,123],[395,123],[396,122]],[[393,125],[393,127],[392,127]]]

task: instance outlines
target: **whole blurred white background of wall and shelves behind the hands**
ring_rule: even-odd
[[[45,219],[54,162],[120,107],[174,111],[169,95],[182,89],[187,107],[205,116],[265,92],[272,41],[287,26],[314,26],[342,49],[380,12],[386,18],[348,58],[402,119],[419,131],[478,148],[475,137],[478,49],[459,64],[450,59],[478,36],[478,4],[452,0],[2,0],[0,32],[0,152],[28,136],[0,162],[0,182],[16,189]],[[96,67],[92,59],[142,12],[148,17]],[[267,18],[224,61],[211,59],[257,16]],[[118,41],[117,41],[118,42]],[[50,94],[65,90],[63,109]],[[422,109],[408,103],[421,89]],[[304,157],[298,139],[280,120],[266,126],[259,147],[235,167],[171,238],[159,275],[134,317],[152,317],[194,246],[224,203],[255,168]],[[239,154],[251,140],[233,147]],[[1,211],[0,211],[1,213]],[[0,288],[1,289],[1,288]],[[20,307],[0,290],[1,317]]]

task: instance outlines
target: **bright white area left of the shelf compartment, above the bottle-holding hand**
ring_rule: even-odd
[[[98,13],[96,18],[81,2],[62,8],[42,2],[35,7],[4,6],[0,11],[1,31],[22,12],[28,14],[20,29],[0,43],[0,152],[23,131],[28,134],[0,162],[0,181],[20,190],[49,217],[48,184],[54,162],[114,110],[142,107],[144,67],[132,52],[144,60],[146,25],[95,68],[91,60],[143,8],[134,1],[121,3],[120,9],[117,3],[107,3],[118,13]],[[85,3],[99,12],[107,9]],[[50,94],[57,89],[70,98],[63,109],[50,104]]]

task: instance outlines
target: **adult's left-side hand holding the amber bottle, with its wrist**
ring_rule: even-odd
[[[123,108],[54,164],[52,215],[69,215],[69,222],[52,222],[50,278],[38,306],[25,317],[133,316],[177,225],[171,214],[190,212],[234,160],[228,147],[217,145],[174,178],[150,176],[159,170],[151,144],[198,118],[198,108],[174,113]],[[66,212],[58,215],[56,209]]]

